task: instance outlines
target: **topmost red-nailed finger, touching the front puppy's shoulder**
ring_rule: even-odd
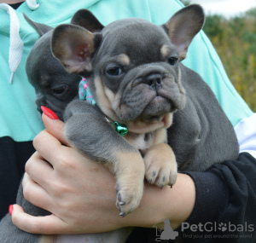
[[[55,136],[62,144],[70,146],[64,134],[64,123],[58,119],[49,119],[44,113],[42,115],[44,126],[52,136]]]

